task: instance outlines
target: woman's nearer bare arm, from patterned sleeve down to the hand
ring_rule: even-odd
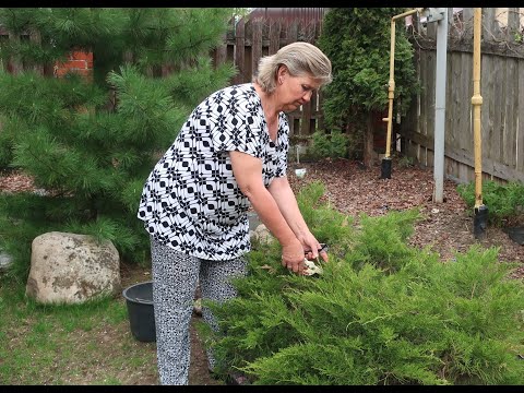
[[[249,154],[231,151],[233,174],[259,218],[282,245],[282,264],[295,273],[303,271],[303,247],[281,213],[275,199],[262,181],[262,162]],[[295,203],[296,204],[296,203]]]

